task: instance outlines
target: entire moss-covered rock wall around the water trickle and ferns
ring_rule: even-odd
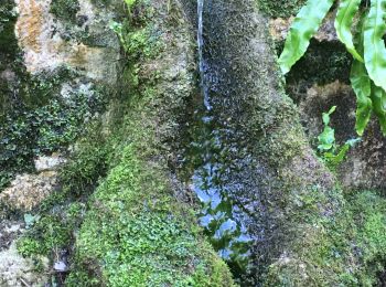
[[[269,26],[280,49],[303,2],[205,1],[197,124],[195,1],[2,0],[0,285],[233,286],[229,267],[246,286],[380,283],[386,203],[352,191],[384,188],[376,124],[337,177],[311,148],[331,105],[337,140],[353,136],[333,14],[287,78],[292,99],[276,66]],[[207,146],[246,214],[246,268],[197,224],[207,158],[189,152]]]

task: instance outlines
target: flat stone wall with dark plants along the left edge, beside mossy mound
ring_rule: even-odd
[[[120,43],[109,23],[122,12],[114,1],[0,3],[0,285],[44,281],[15,252],[25,231],[17,214],[58,190],[66,147],[116,94]]]

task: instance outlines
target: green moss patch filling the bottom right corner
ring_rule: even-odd
[[[320,199],[309,194],[309,208]],[[305,202],[305,198],[302,199]],[[376,286],[386,263],[386,200],[375,192],[350,195],[340,214],[309,219],[301,257],[288,254],[270,266],[266,286]],[[301,213],[310,216],[311,212]],[[318,228],[313,228],[318,226]]]

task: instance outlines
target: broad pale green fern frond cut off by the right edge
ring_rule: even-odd
[[[386,49],[383,35],[386,31],[386,0],[372,0],[364,25],[364,59],[369,77],[386,91]]]

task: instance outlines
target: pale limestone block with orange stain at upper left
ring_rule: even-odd
[[[119,43],[108,29],[108,23],[115,15],[111,11],[96,8],[89,0],[83,0],[79,1],[76,14],[83,21],[66,25],[50,12],[51,0],[15,2],[19,11],[15,32],[29,72],[36,74],[54,71],[65,64],[82,71],[89,78],[115,83]],[[92,39],[96,33],[106,34],[104,43],[84,43],[82,36]]]

